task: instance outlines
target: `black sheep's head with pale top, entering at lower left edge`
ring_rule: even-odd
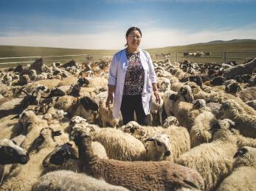
[[[20,163],[25,165],[30,156],[23,148],[16,145],[13,140],[0,140],[0,165],[8,165],[13,163]]]

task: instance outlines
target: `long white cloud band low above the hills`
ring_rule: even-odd
[[[179,46],[204,43],[212,40],[256,39],[255,26],[240,26],[239,29],[204,30],[187,32],[181,29],[142,29],[142,48]],[[46,46],[62,48],[120,49],[125,44],[124,31],[105,31],[92,35],[9,35],[0,37],[1,45]]]

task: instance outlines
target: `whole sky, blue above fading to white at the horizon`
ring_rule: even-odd
[[[0,45],[119,49],[256,39],[256,0],[1,0]]]

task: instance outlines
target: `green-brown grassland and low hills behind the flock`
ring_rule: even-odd
[[[99,60],[102,57],[111,56],[117,50],[89,50],[89,49],[72,49],[72,48],[47,48],[47,47],[27,47],[27,46],[0,46],[0,58],[2,57],[45,57],[45,56],[60,56],[60,55],[77,55],[90,54],[93,55],[94,60]],[[226,60],[237,60],[237,62],[244,62],[249,58],[256,57],[256,40],[230,40],[230,41],[213,41],[210,43],[198,43],[187,46],[168,46],[164,48],[150,48],[147,51],[151,54],[153,60],[156,60],[156,54],[170,53],[170,61],[182,60],[183,52],[194,51],[210,51],[210,58],[188,57],[187,59],[193,62],[222,62],[223,52],[226,53]],[[67,62],[67,60],[75,59],[79,62],[86,60],[86,56],[78,57],[47,57],[46,64],[52,62]],[[161,58],[160,58],[161,59]],[[13,58],[0,59],[0,68],[18,65],[7,64],[3,62],[25,62],[35,60],[35,58]],[[23,63],[24,62],[24,63]]]

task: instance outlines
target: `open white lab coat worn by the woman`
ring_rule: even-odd
[[[139,50],[139,59],[144,69],[145,78],[144,86],[142,90],[142,106],[146,115],[151,110],[151,95],[153,92],[152,83],[156,83],[156,73],[153,69],[153,63],[151,56],[147,51]],[[108,84],[114,85],[114,106],[113,117],[119,118],[120,107],[122,104],[122,93],[125,84],[125,73],[128,68],[128,59],[125,53],[125,49],[118,51],[114,54],[108,76]]]

